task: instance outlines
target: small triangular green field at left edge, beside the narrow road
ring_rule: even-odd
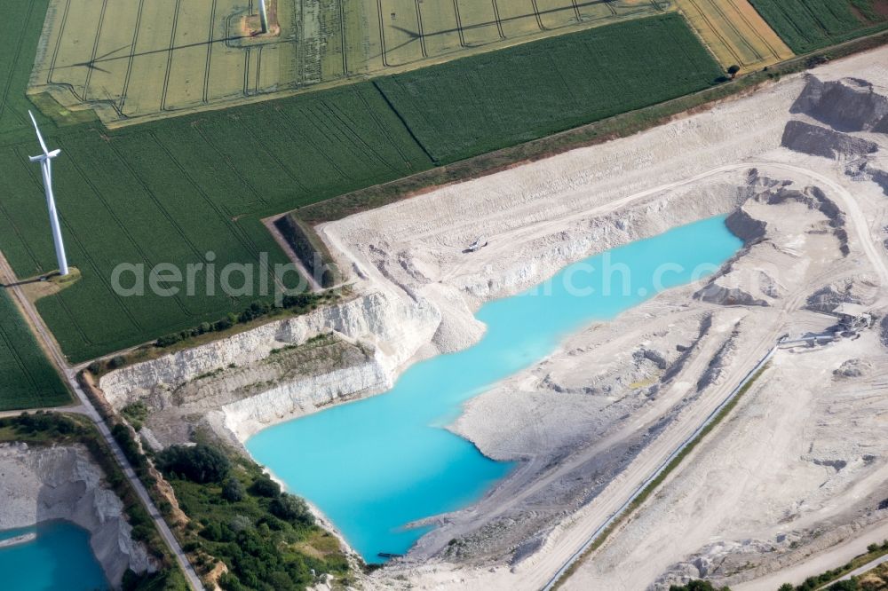
[[[0,315],[0,411],[71,402],[59,374],[4,288],[0,288]]]

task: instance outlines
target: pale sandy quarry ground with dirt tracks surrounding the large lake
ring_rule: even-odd
[[[781,349],[731,420],[566,588],[771,581],[888,517],[876,510],[888,497],[881,64],[888,49],[321,228],[359,289],[440,308],[430,351],[476,340],[480,303],[606,248],[717,214],[746,240],[710,282],[589,327],[472,400],[452,429],[519,469],[476,506],[433,520],[440,527],[366,587],[542,587],[781,335],[833,330],[840,303],[873,311],[874,326]],[[845,78],[855,80],[836,82]],[[465,254],[479,236],[489,246]],[[834,566],[807,563],[790,579]]]

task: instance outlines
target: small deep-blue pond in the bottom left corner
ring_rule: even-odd
[[[0,588],[9,591],[92,591],[109,589],[92,555],[90,533],[67,521],[0,532],[0,540],[27,533],[37,538],[0,548]]]

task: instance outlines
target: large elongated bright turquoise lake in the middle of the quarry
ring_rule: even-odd
[[[543,359],[572,332],[698,280],[741,247],[725,217],[571,264],[541,286],[484,304],[488,330],[464,351],[416,363],[392,390],[259,432],[247,449],[311,500],[368,563],[403,554],[417,519],[479,500],[513,468],[444,429],[470,398]],[[471,256],[471,255],[469,255]]]

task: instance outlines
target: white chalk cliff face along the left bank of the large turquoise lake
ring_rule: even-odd
[[[441,323],[437,306],[398,291],[369,290],[303,316],[124,367],[103,376],[99,387],[118,409],[137,400],[153,401],[153,409],[188,408],[243,441],[275,422],[390,389],[403,366],[432,343]],[[294,346],[331,334],[365,351],[361,359],[334,366],[315,359],[294,367]],[[184,437],[158,435],[162,443]]]

